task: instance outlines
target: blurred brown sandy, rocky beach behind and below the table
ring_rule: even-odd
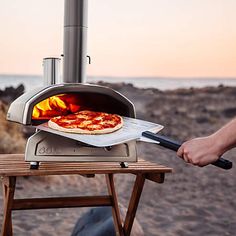
[[[236,116],[236,87],[205,87],[161,91],[132,84],[109,84],[135,105],[137,118],[164,125],[161,132],[178,141],[209,135]],[[1,97],[0,97],[1,98]],[[8,101],[9,102],[9,101]],[[0,152],[23,153],[22,126],[5,121],[8,104],[0,102]],[[138,143],[138,156],[173,168],[163,184],[145,182],[137,211],[146,236],[226,236],[236,232],[236,169],[204,168],[184,163],[173,151],[155,144]],[[224,155],[234,161],[236,149]],[[235,162],[235,161],[234,161]],[[15,196],[50,197],[106,193],[104,177],[50,176],[19,178]],[[127,207],[134,176],[117,175],[120,203]],[[89,188],[87,187],[89,186]],[[2,189],[0,209],[2,209]],[[49,209],[13,213],[17,236],[69,236],[76,221],[89,208]],[[0,222],[2,222],[0,210]]]

